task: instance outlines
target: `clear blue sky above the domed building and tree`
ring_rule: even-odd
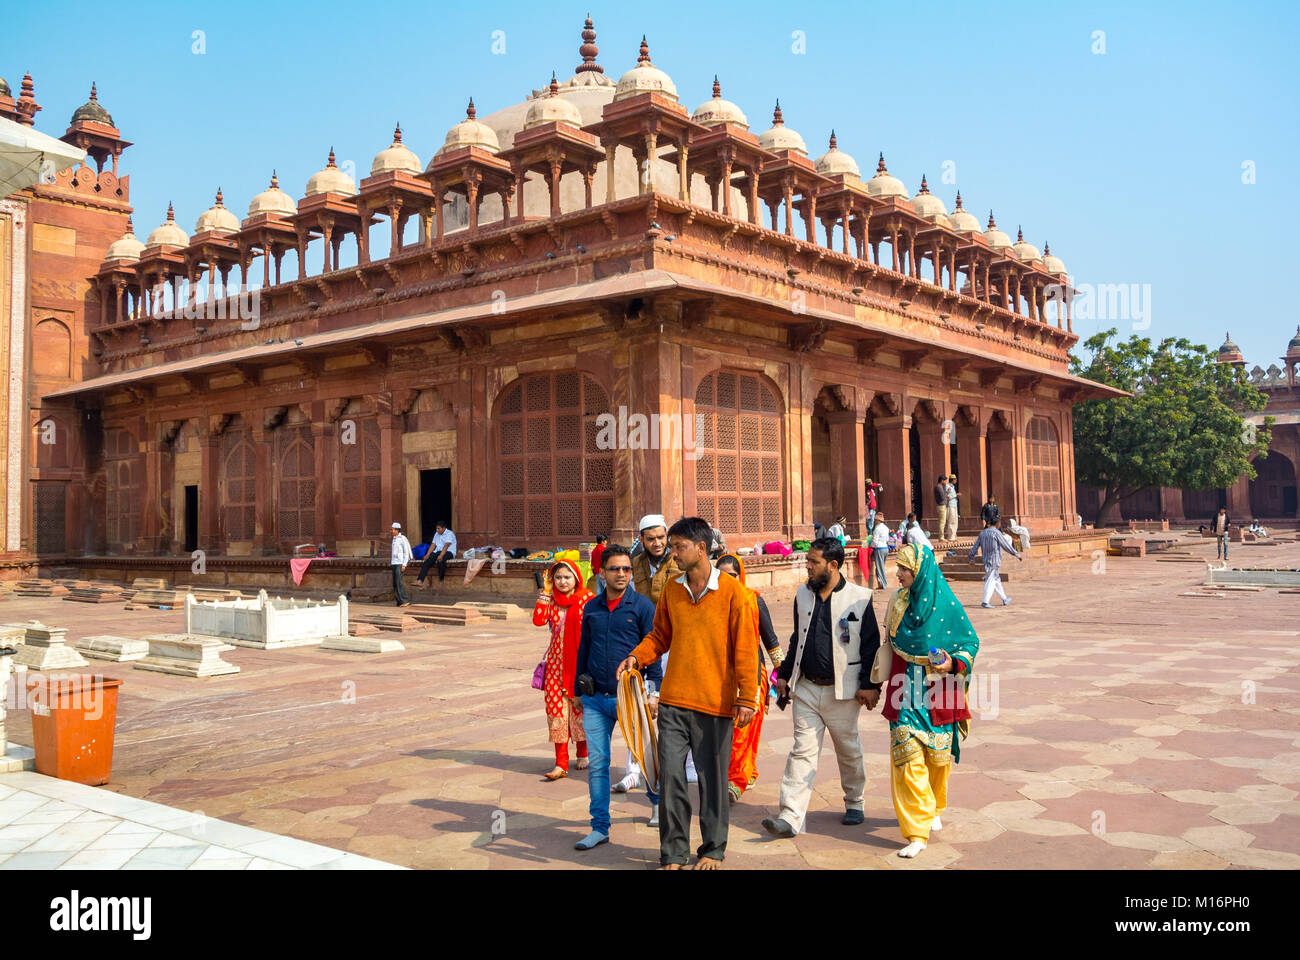
[[[330,146],[364,176],[396,120],[428,161],[468,96],[490,113],[552,69],[571,75],[588,12],[122,1],[107,17],[53,18],[21,4],[5,14],[0,75],[17,94],[32,73],[36,127],[56,135],[98,82],[135,143],[122,172],[143,237],[168,200],[191,230],[218,185],[242,216],[273,167],[300,196]],[[1230,329],[1249,364],[1268,367],[1300,321],[1271,293],[1296,276],[1300,4],[751,0],[590,13],[614,78],[644,33],[688,109],[715,73],[755,131],[779,96],[814,156],[835,127],[864,176],[884,151],[910,191],[926,173],[949,208],[961,189],[1013,239],[1023,225],[1035,246],[1049,241],[1076,284],[1138,285],[1149,312],[1080,320],[1082,337],[1149,320],[1145,336],[1218,346]]]

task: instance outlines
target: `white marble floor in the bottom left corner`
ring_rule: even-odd
[[[0,774],[0,870],[400,870],[31,771]]]

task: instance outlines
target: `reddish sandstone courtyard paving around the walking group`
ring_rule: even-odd
[[[1209,541],[1192,550],[1213,554]],[[1232,559],[1300,567],[1300,545],[1244,545]],[[727,866],[1300,868],[1300,596],[1184,596],[1204,575],[1153,558],[1058,563],[1013,579],[1013,604],[994,610],[979,607],[980,584],[954,583],[996,709],[976,713],[942,833],[915,861],[894,856],[878,709],[861,718],[866,825],[840,823],[827,740],[805,833],[768,838],[759,821],[775,816],[792,744],[774,705]],[[878,591],[878,617],[885,600]],[[772,613],[784,644],[789,601]],[[29,618],[74,641],[174,632],[183,614],[0,604],[0,620]],[[653,868],[641,791],[614,797],[608,844],[572,849],[588,831],[586,774],[541,780],[552,754],[529,679],[546,636],[494,620],[404,633],[404,653],[381,656],[240,648],[224,657],[242,673],[202,680],[103,665],[125,683],[113,779],[99,790],[406,866]],[[25,712],[9,731],[31,744]],[[624,754],[616,735],[615,777]],[[0,792],[21,786],[12,778]]]

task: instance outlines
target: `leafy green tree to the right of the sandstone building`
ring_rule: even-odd
[[[1070,358],[1076,376],[1131,394],[1074,407],[1075,477],[1105,492],[1097,523],[1117,520],[1119,501],[1150,487],[1204,490],[1253,479],[1251,458],[1269,449],[1273,418],[1245,423],[1268,397],[1244,371],[1183,337],[1156,346],[1114,337],[1097,333],[1083,343],[1088,359]]]

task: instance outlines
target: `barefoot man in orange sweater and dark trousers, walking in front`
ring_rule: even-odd
[[[659,597],[654,628],[619,665],[644,670],[664,653],[668,670],[659,687],[659,864],[680,870],[690,852],[690,795],[686,752],[699,774],[697,870],[714,870],[727,852],[727,770],[733,723],[754,719],[758,691],[758,635],[740,583],[719,576],[708,561],[714,533],[689,516],[668,529],[677,566]]]

